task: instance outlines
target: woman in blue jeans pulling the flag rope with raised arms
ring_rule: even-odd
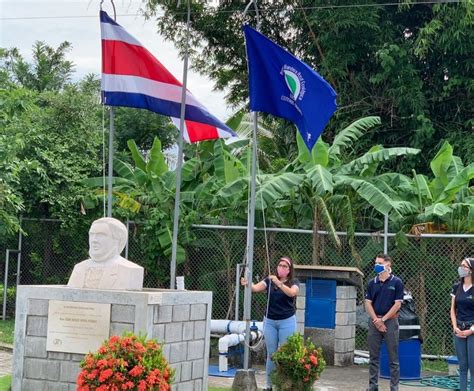
[[[268,307],[263,324],[263,335],[267,347],[266,390],[271,390],[270,374],[274,364],[272,355],[296,331],[295,300],[299,292],[299,282],[293,278],[294,266],[289,257],[281,257],[276,274],[252,284],[252,292],[268,292]],[[247,285],[247,280],[240,280]]]

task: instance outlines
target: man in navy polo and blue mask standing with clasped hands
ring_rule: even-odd
[[[374,271],[365,294],[365,309],[369,314],[369,391],[378,390],[380,347],[387,345],[390,360],[390,391],[397,391],[400,382],[398,362],[398,312],[403,301],[403,282],[392,274],[392,260],[386,254],[377,255]]]

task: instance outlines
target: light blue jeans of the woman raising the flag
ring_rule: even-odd
[[[291,334],[296,331],[296,316],[282,320],[264,319],[263,335],[265,337],[265,345],[267,346],[267,363],[265,370],[267,372],[267,387],[270,386],[270,373],[273,371],[274,364],[272,354],[276,352],[278,347],[286,342]]]

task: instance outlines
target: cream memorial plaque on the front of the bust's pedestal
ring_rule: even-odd
[[[49,301],[46,350],[95,352],[109,338],[110,304]]]

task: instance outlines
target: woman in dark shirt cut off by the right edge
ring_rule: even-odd
[[[471,373],[474,390],[474,290],[472,271],[474,258],[465,258],[458,268],[460,281],[451,290],[451,324],[454,331],[454,347],[459,362],[459,388],[467,391],[467,372]]]

